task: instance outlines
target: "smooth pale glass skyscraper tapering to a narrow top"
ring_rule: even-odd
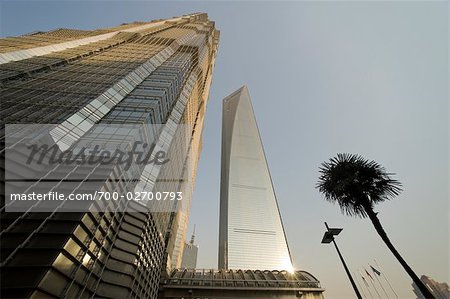
[[[223,100],[221,167],[219,269],[292,271],[246,86]]]

